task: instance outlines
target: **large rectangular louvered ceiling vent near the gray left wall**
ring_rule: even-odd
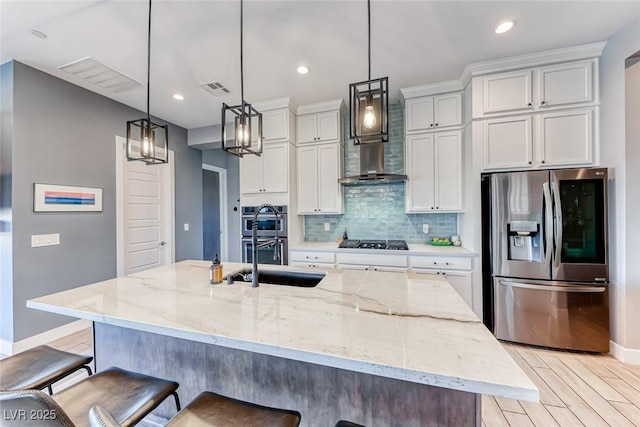
[[[58,69],[110,92],[119,93],[142,86],[141,83],[91,57],[82,58]]]

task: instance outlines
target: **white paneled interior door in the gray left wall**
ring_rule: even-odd
[[[127,161],[116,138],[118,275],[174,262],[173,152],[169,163]]]

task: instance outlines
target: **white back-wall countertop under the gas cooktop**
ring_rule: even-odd
[[[475,253],[460,246],[433,246],[428,243],[409,243],[408,251],[394,251],[388,249],[349,249],[338,248],[336,242],[300,242],[290,244],[289,250],[319,251],[319,252],[355,252],[382,253],[387,255],[443,255],[473,257]]]

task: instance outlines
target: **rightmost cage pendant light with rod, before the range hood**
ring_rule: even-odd
[[[350,138],[354,144],[389,140],[389,77],[371,79],[371,0],[367,0],[368,80],[349,85]]]

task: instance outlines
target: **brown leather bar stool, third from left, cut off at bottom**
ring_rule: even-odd
[[[232,399],[208,391],[200,393],[165,427],[297,427],[300,413]],[[108,410],[94,406],[91,427],[119,427]]]

